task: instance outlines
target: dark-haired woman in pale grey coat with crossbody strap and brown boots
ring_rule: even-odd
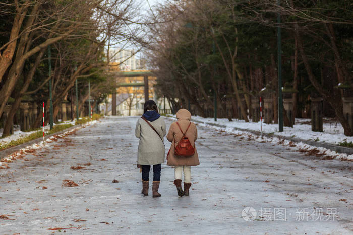
[[[137,167],[142,169],[142,191],[148,196],[149,172],[153,165],[153,197],[160,197],[158,193],[160,183],[161,164],[164,162],[166,135],[164,119],[158,113],[158,108],[153,100],[148,100],[143,106],[141,118],[137,120],[135,135],[140,139],[137,153]]]

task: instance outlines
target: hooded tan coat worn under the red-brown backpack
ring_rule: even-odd
[[[189,126],[191,119],[191,113],[186,110],[186,109],[180,109],[177,112],[177,122],[179,123],[180,127],[182,128],[183,132],[186,131],[186,129]],[[191,123],[188,132],[185,134],[186,137],[189,138],[189,141],[192,145],[194,145],[194,142],[197,139],[197,129],[195,123]],[[194,155],[192,156],[175,156],[174,155],[174,150],[175,146],[178,145],[179,141],[182,139],[183,134],[180,131],[177,123],[173,122],[170,125],[169,132],[167,134],[167,139],[171,143],[171,147],[169,150],[169,154],[167,155],[167,165],[169,166],[197,166],[200,164],[199,162],[199,157],[197,154],[197,150],[195,150]],[[196,146],[195,146],[196,147]]]

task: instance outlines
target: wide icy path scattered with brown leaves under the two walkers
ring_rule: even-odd
[[[0,215],[14,219],[0,218],[0,234],[353,234],[352,162],[200,125],[190,196],[164,164],[162,197],[143,197],[136,120],[104,118],[0,169]]]

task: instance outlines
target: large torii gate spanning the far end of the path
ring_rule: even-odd
[[[119,83],[117,87],[145,87],[145,101],[148,101],[148,77],[153,76],[150,71],[137,71],[137,72],[118,72],[116,77],[143,77],[143,83]],[[116,90],[112,94],[111,100],[111,115],[116,115]]]

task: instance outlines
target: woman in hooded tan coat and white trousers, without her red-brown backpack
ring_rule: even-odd
[[[188,137],[191,145],[194,146],[194,142],[197,139],[197,128],[195,123],[190,121],[191,113],[186,109],[180,109],[177,112],[177,122],[185,136]],[[192,156],[176,156],[174,155],[175,146],[178,145],[179,141],[183,137],[182,131],[179,129],[177,122],[173,122],[170,125],[167,139],[172,142],[170,150],[167,155],[167,165],[175,166],[175,180],[174,184],[177,186],[179,196],[189,196],[189,189],[191,186],[191,166],[197,166],[200,164],[197,150]],[[190,124],[189,129],[187,130]],[[187,132],[185,132],[187,130]],[[182,172],[184,170],[184,191],[182,189]]]

